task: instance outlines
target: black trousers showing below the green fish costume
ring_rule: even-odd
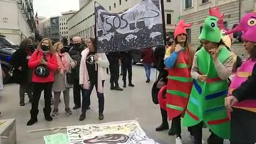
[[[203,136],[203,121],[200,122],[197,125],[194,125],[193,127],[193,135],[195,138],[195,144],[202,144],[202,136]],[[211,130],[211,135],[207,139],[207,142],[209,144],[223,144],[224,139],[221,137],[218,137],[216,134],[214,134]]]

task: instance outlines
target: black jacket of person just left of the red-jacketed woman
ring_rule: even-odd
[[[28,53],[25,49],[18,49],[11,56],[11,65],[13,65],[13,81],[16,83],[29,83],[31,82],[31,77],[29,73],[31,71],[28,67],[28,59],[26,59]],[[22,71],[19,71],[18,68],[22,67]]]

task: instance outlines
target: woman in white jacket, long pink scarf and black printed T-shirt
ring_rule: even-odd
[[[87,107],[90,106],[91,92],[95,86],[99,99],[99,120],[104,119],[104,94],[103,86],[108,74],[106,68],[109,66],[105,53],[97,53],[96,40],[90,38],[87,42],[87,49],[82,51],[82,60],[79,73],[79,84],[84,88],[85,95],[82,97],[82,114],[79,118],[84,121]]]

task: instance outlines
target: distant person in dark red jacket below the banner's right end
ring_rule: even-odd
[[[146,83],[149,83],[151,67],[152,67],[153,60],[154,60],[154,51],[151,48],[146,48],[146,49],[142,50],[141,59],[142,59],[142,63],[145,68],[145,74],[146,74],[146,78],[147,78]]]

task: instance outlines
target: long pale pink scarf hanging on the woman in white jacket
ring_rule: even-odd
[[[81,66],[82,66],[82,74],[83,74],[83,85],[84,85],[84,89],[90,89],[90,82],[89,82],[89,74],[88,74],[88,70],[87,70],[87,65],[86,65],[86,58],[89,54],[90,50],[89,49],[85,49],[85,52],[83,53],[84,55],[82,56],[82,60],[81,60]],[[97,89],[98,92],[100,94],[103,94],[103,86],[102,86],[102,77],[101,77],[101,72],[99,70],[99,68],[97,68],[97,64],[96,66],[96,70],[97,70]]]

